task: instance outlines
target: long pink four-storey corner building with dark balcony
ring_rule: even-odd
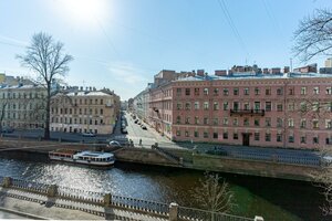
[[[176,141],[321,148],[332,145],[332,76],[190,76],[151,92],[151,123]]]

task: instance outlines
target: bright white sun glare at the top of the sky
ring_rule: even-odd
[[[94,25],[106,15],[105,0],[59,0],[62,13],[82,25]]]

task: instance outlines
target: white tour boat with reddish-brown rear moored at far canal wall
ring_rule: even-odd
[[[59,149],[49,152],[52,160],[76,162],[92,166],[112,166],[115,162],[114,155],[101,151],[77,151],[73,149]]]

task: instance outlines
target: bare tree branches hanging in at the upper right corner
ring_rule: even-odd
[[[294,32],[293,52],[302,62],[318,55],[332,55],[332,11],[315,10],[304,18]]]

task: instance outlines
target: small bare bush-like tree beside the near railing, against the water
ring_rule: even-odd
[[[230,212],[235,207],[234,193],[228,183],[216,173],[205,172],[199,186],[191,191],[193,198],[201,209],[211,212]]]

